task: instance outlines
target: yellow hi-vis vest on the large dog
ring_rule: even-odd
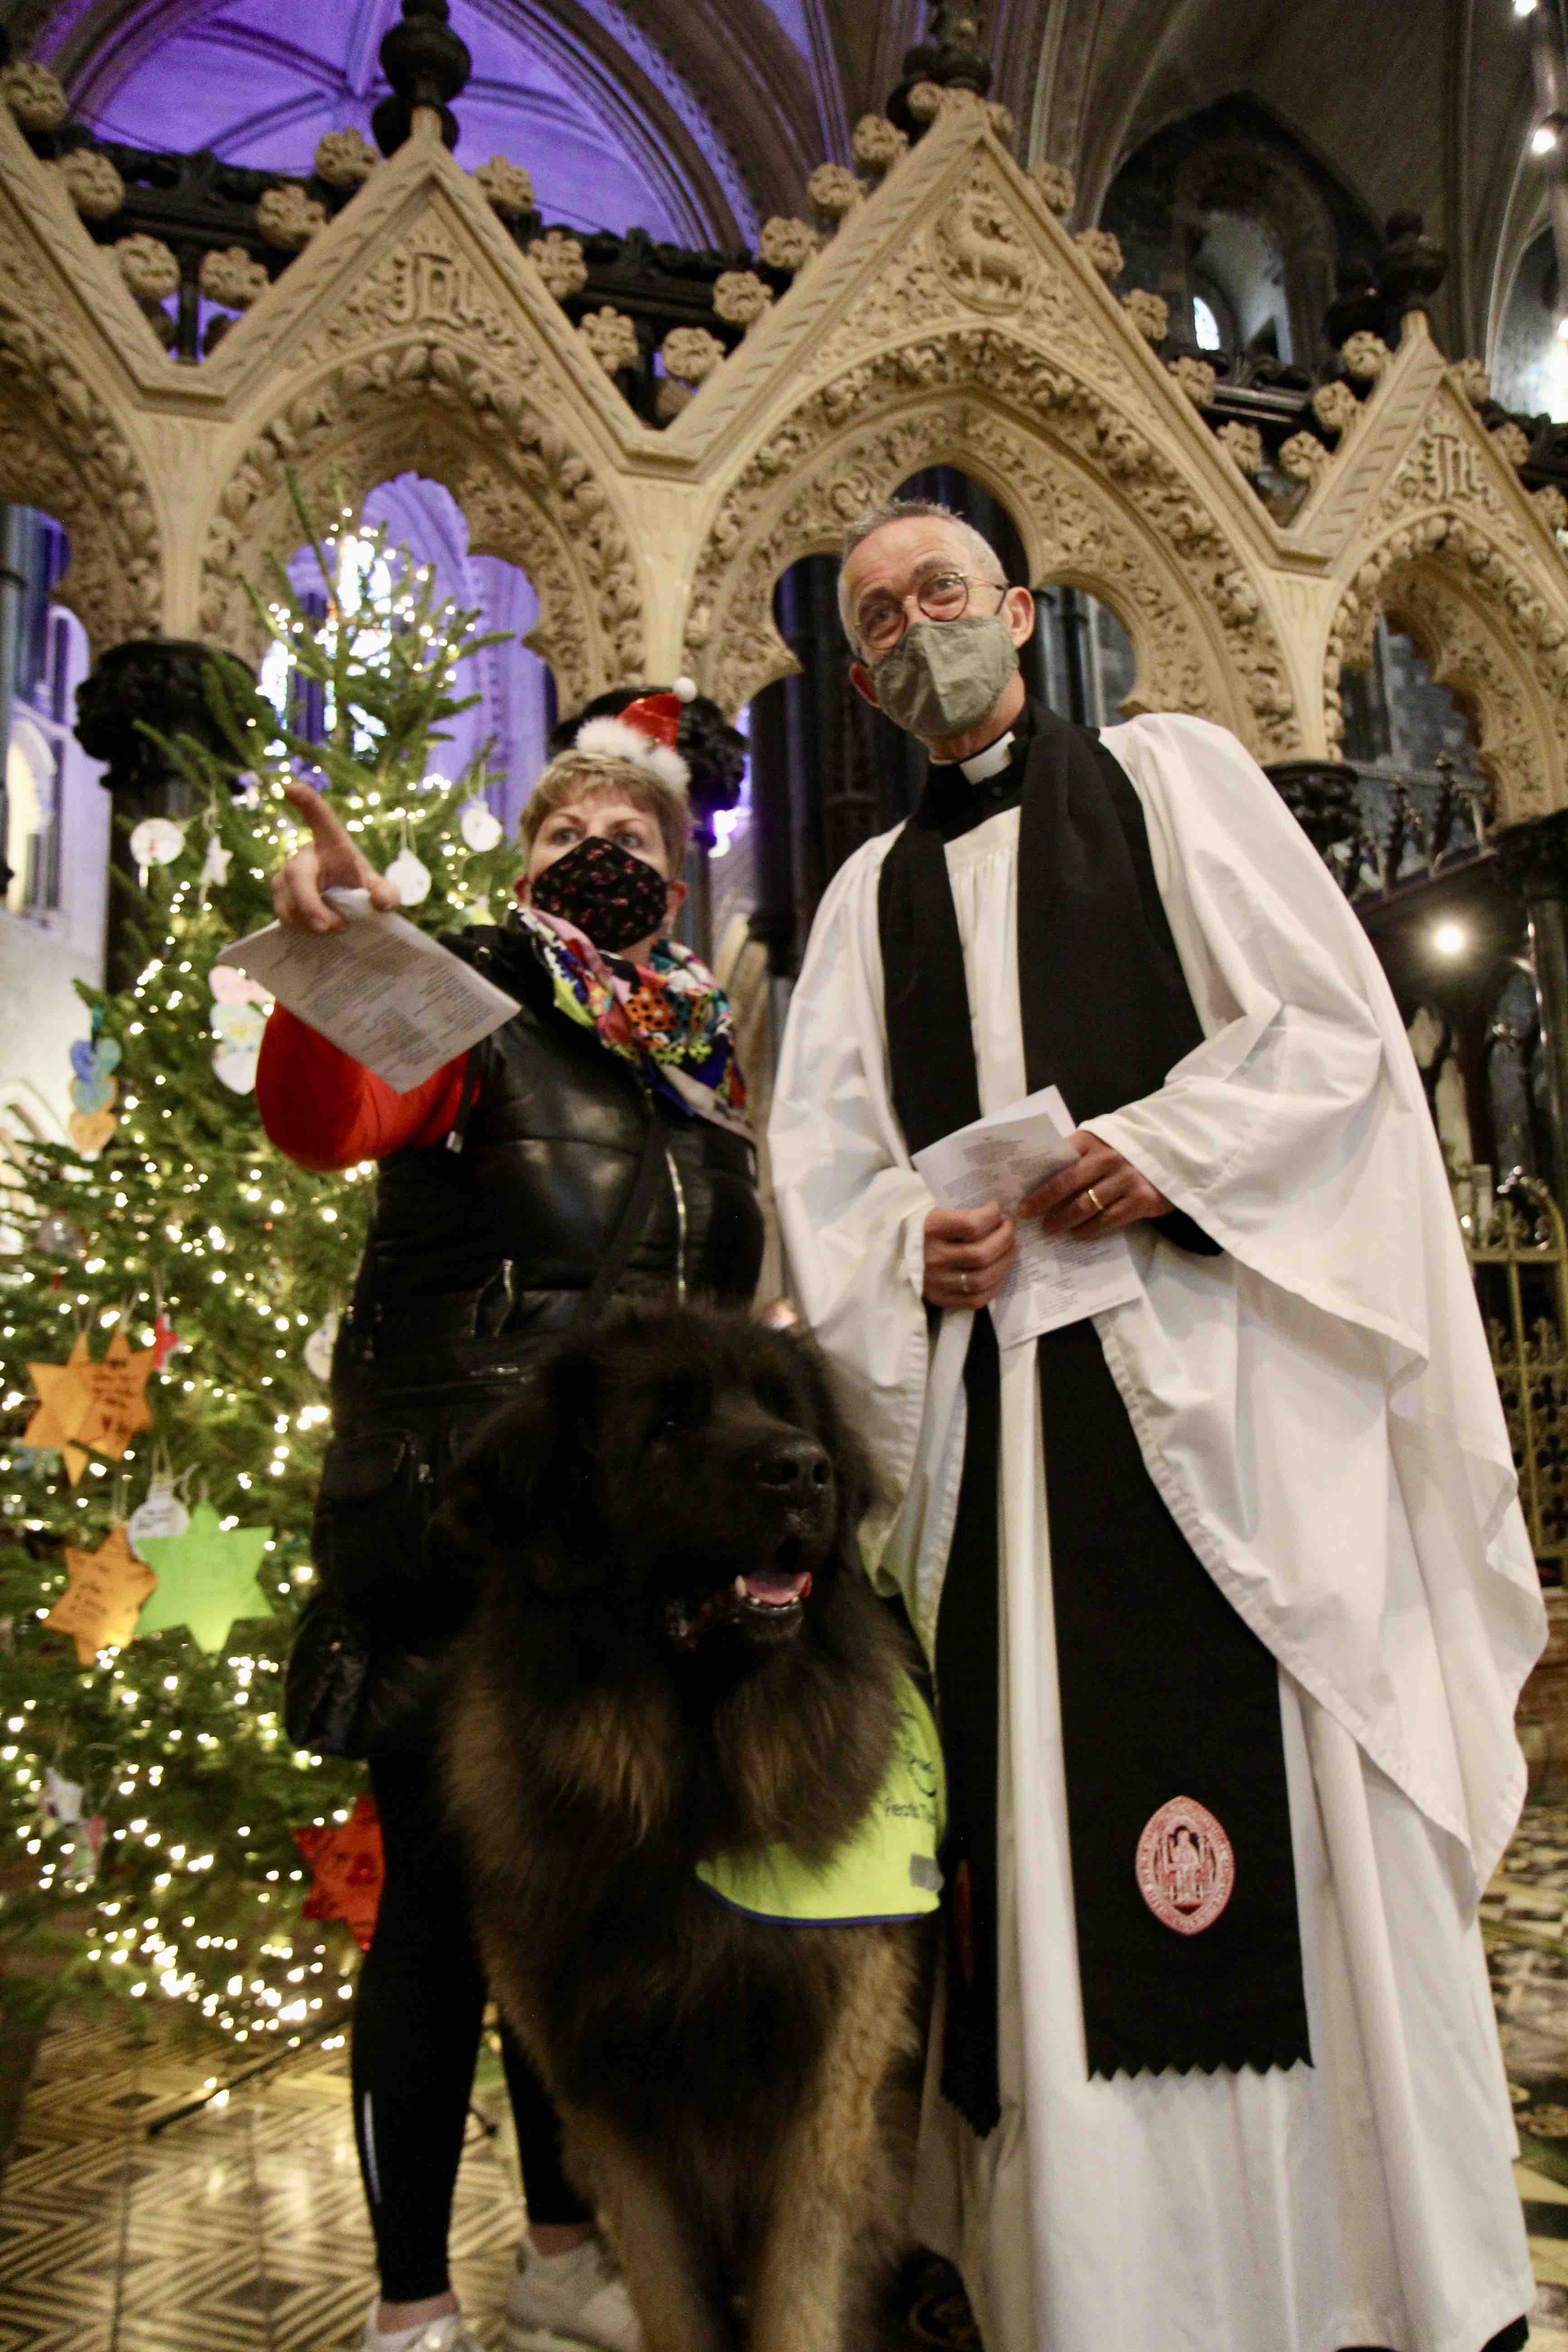
[[[900,1672],[893,1762],[860,1828],[816,1867],[792,1846],[719,1853],[696,1875],[731,1910],[778,1926],[882,1926],[938,1907],[947,1776],[931,1708]]]

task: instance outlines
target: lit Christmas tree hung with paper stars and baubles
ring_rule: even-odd
[[[487,755],[435,774],[458,663],[498,640],[350,515],[301,527],[320,595],[277,572],[261,684],[209,668],[221,748],[162,746],[193,816],[132,835],[141,969],[82,993],[71,1143],[0,1162],[0,1983],[38,1985],[14,1962],[47,1945],[52,1992],[167,1997],[252,2046],[343,2016],[357,1957],[301,1903],[310,1856],[336,1907],[362,1776],[292,1748],[282,1668],[371,1169],[268,1145],[266,1002],[214,957],[273,915],[294,779],[425,929],[498,915],[517,870]]]

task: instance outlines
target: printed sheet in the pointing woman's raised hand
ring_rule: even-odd
[[[520,1009],[515,997],[402,915],[376,913],[362,889],[331,889],[343,931],[284,931],[270,922],[223,948],[219,964],[247,971],[280,1004],[409,1094],[489,1037]]]

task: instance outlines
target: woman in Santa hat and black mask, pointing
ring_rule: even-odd
[[[378,1162],[334,1355],[315,1538],[322,1590],[374,1632],[353,1736],[386,1844],[353,2032],[381,2270],[367,2352],[477,2352],[447,2274],[447,2225],[484,1980],[433,1752],[437,1658],[463,1595],[423,1578],[425,1519],[468,1432],[585,1305],[611,1289],[745,1305],[762,1258],[729,1009],[663,936],[691,837],[677,734],[741,755],[712,706],[682,724],[677,696],[658,694],[588,720],[541,776],[517,910],[449,943],[522,1007],[473,1054],[400,1096],[282,1007],[261,1049],[256,1096],[280,1150],[313,1169]],[[322,898],[334,884],[395,906],[331,809],[306,786],[289,795],[310,844],[273,880],[277,920],[339,929]],[[503,2058],[529,2209],[505,2352],[635,2352],[625,2288],[562,2173],[543,2086],[510,2037]]]

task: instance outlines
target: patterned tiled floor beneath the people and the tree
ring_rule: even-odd
[[[1519,2112],[1533,2352],[1568,2352],[1568,1806],[1533,1806],[1483,1931]],[[63,2016],[45,2037],[0,2197],[0,2352],[353,2352],[371,2251],[348,2053],[313,2051],[148,2140],[193,2063]],[[458,2178],[454,2281],[498,2345],[522,2209],[498,2067],[482,2060]],[[952,2274],[910,2281],[910,2345],[980,2352]]]

